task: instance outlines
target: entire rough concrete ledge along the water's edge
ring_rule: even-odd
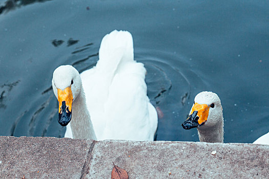
[[[269,145],[0,137],[1,178],[267,178]],[[216,154],[212,151],[216,150]]]

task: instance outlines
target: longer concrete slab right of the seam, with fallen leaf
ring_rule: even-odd
[[[87,177],[110,178],[112,162],[129,178],[269,178],[266,145],[102,141],[92,151]]]

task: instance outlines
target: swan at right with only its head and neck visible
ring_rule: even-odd
[[[223,115],[218,95],[212,92],[196,95],[190,116],[181,125],[184,129],[197,127],[200,142],[223,143]]]

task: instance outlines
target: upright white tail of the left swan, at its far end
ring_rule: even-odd
[[[134,61],[131,33],[114,30],[107,34],[101,41],[96,68],[113,75],[120,63],[128,61]]]

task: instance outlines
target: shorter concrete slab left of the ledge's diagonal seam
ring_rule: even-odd
[[[80,178],[92,140],[0,137],[1,178]]]

